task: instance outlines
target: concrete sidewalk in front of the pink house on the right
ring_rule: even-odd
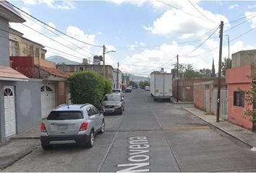
[[[229,123],[226,120],[220,120],[219,123],[216,123],[216,116],[215,115],[205,115],[205,112],[202,110],[198,110],[195,107],[186,107],[185,105],[182,107],[184,110],[191,112],[192,114],[200,117],[207,123],[215,126],[216,128],[223,130],[223,132],[228,133],[229,135],[233,136],[234,138],[239,139],[244,143],[247,143],[249,146],[255,150],[256,147],[256,133],[253,133],[250,130],[245,128],[239,127],[238,125],[234,125]]]

